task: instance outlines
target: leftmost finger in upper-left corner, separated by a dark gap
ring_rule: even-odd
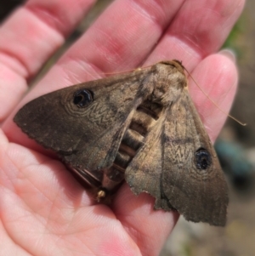
[[[94,0],[31,0],[0,28],[0,122]]]

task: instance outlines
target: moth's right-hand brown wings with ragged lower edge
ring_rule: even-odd
[[[175,208],[187,220],[225,225],[228,195],[224,174],[187,90],[169,107],[164,118],[161,129],[155,128],[160,130],[157,137],[161,139],[145,142],[131,163],[127,183],[131,180],[137,194],[147,191],[155,196],[155,208]],[[154,148],[149,146],[151,143]],[[147,163],[139,168],[139,155],[144,151],[149,151],[143,158]],[[151,158],[154,154],[156,158]],[[153,184],[155,171],[154,182],[159,191],[147,187]],[[133,184],[141,176],[143,184]]]

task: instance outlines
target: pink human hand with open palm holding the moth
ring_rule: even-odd
[[[219,52],[241,0],[116,0],[26,97],[27,82],[65,42],[94,0],[31,0],[0,28],[0,255],[158,255],[178,213],[153,210],[124,184],[111,206],[96,204],[65,166],[22,134],[21,105],[71,84],[143,63],[182,60],[201,88],[229,111],[235,60]],[[226,115],[190,80],[214,141]]]

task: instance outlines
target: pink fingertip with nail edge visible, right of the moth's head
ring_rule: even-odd
[[[207,133],[215,141],[235,98],[238,83],[235,62],[225,54],[210,55],[195,67],[192,77],[201,88],[190,79],[191,97]]]

